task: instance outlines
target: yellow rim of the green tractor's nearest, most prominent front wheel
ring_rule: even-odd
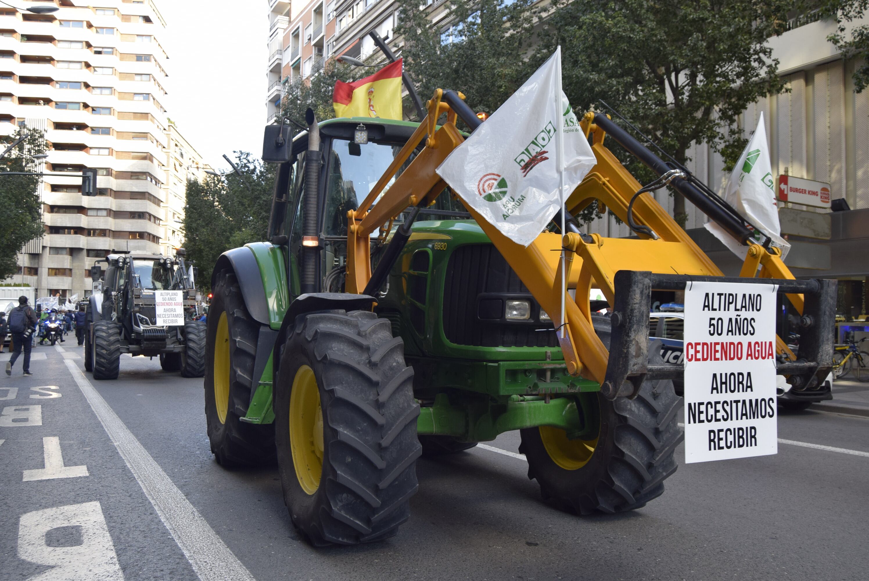
[[[289,447],[295,477],[306,494],[320,487],[323,471],[323,413],[314,370],[302,365],[289,392]]]

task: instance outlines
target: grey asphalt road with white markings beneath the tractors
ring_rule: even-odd
[[[81,348],[63,350],[36,347],[33,377],[20,363],[0,374],[3,581],[869,576],[866,418],[779,415],[779,438],[845,451],[782,443],[776,456],[685,465],[680,447],[664,495],[617,516],[554,510],[521,457],[478,447],[421,459],[398,536],[315,550],[289,521],[274,467],[215,463],[201,379],[123,357],[117,381],[93,381]]]

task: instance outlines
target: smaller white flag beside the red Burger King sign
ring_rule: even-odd
[[[781,237],[779,207],[775,203],[774,184],[773,166],[770,164],[769,147],[766,145],[766,127],[761,113],[751,141],[748,142],[746,149],[742,150],[740,160],[730,174],[724,199],[749,222],[763,230],[763,234],[772,238],[773,246],[781,249],[781,257],[784,259],[787,251],[791,250],[791,245]],[[709,222],[705,226],[706,230],[712,232],[733,254],[745,260],[747,246],[740,244],[714,222]],[[756,234],[755,237],[758,244],[763,244],[762,234]]]

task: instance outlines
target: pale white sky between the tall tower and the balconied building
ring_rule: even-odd
[[[221,169],[234,150],[260,156],[266,123],[269,19],[264,0],[157,0],[166,20],[166,109],[184,137]],[[163,39],[161,39],[163,43]]]

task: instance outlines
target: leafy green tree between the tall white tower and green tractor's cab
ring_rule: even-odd
[[[236,151],[242,175],[187,182],[184,246],[208,289],[217,258],[226,250],[266,239],[275,170],[247,151]]]

